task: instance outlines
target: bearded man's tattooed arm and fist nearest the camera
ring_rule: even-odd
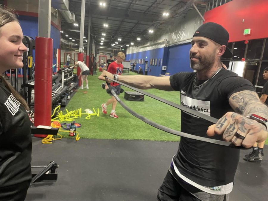
[[[257,114],[268,119],[268,107],[260,101],[256,92],[237,92],[229,98],[229,104],[235,112],[226,113],[215,125],[208,127],[208,136],[222,135],[225,141],[244,147],[251,147],[255,142],[267,138],[264,124],[246,118],[250,114]]]

